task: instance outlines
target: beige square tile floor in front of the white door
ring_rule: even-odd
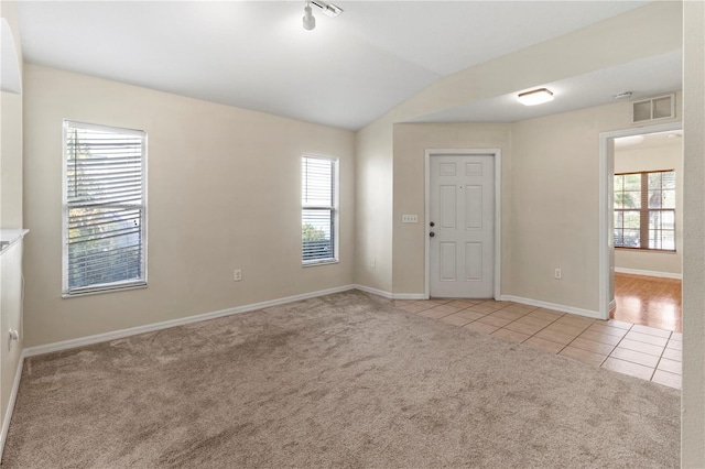
[[[680,332],[512,302],[395,299],[408,313],[681,389]]]

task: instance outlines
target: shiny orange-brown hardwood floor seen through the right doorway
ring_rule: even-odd
[[[615,273],[617,308],[609,317],[681,332],[681,281]]]

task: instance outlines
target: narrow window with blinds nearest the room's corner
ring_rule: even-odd
[[[302,262],[304,265],[337,262],[337,159],[304,156],[301,178]]]

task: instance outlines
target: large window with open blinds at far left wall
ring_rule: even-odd
[[[147,135],[64,121],[64,295],[147,285]]]

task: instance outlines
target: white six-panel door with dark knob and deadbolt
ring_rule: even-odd
[[[430,270],[433,297],[491,298],[495,292],[492,155],[432,155]]]

